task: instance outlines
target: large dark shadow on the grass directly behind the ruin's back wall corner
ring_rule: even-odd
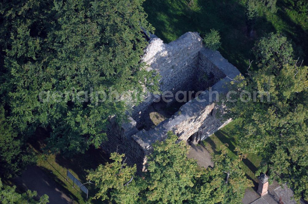
[[[222,42],[219,51],[241,73],[246,73],[248,59],[254,59],[251,49],[257,36],[254,39],[247,37],[245,7],[238,1],[195,1],[191,7],[185,0],[145,1],[144,10],[148,13],[148,21],[156,28],[155,34],[165,43],[188,31],[197,31],[203,37],[210,29],[216,29]],[[275,30],[271,22],[263,20],[264,26],[259,33]]]

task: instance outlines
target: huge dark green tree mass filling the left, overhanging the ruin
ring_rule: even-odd
[[[51,151],[83,152],[106,139],[108,116],[122,120],[144,86],[157,89],[155,74],[139,63],[147,44],[141,27],[153,30],[141,4],[0,3],[1,103],[22,134],[50,127]]]

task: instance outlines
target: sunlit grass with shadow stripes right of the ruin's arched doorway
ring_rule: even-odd
[[[229,156],[236,157],[236,152],[234,152],[237,146],[237,136],[239,132],[236,129],[236,125],[241,123],[241,120],[233,120],[228,125],[226,125],[221,130],[215,132],[213,135],[203,140],[204,146],[211,153],[217,153],[221,149],[219,148],[222,144],[227,143],[229,146]],[[241,168],[246,173],[248,179],[253,181],[253,184],[257,186],[257,178],[255,177],[255,172],[257,167],[260,166],[261,157],[256,154],[248,154],[246,159],[241,162]]]

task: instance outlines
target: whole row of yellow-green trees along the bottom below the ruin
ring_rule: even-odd
[[[147,172],[135,175],[136,166],[125,164],[124,155],[111,154],[112,163],[90,171],[88,179],[98,188],[96,198],[116,203],[241,203],[251,181],[237,159],[227,155],[226,146],[213,156],[214,167],[199,167],[188,159],[189,146],[168,132],[165,141],[153,145]],[[226,173],[225,173],[226,172]],[[228,178],[227,178],[227,175]]]

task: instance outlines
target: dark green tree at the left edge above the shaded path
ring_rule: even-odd
[[[35,157],[27,151],[0,106],[0,178],[10,178],[34,162]]]

